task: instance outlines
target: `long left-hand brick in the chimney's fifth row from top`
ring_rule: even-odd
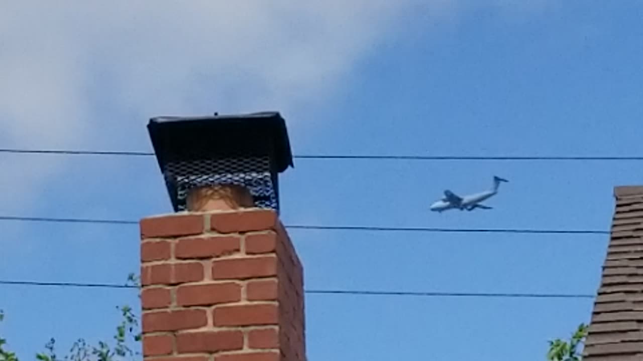
[[[205,310],[176,310],[143,313],[143,332],[177,331],[208,324]]]

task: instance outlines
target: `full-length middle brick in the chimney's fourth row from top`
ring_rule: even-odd
[[[176,290],[179,306],[212,305],[241,301],[241,286],[237,283],[180,286]]]

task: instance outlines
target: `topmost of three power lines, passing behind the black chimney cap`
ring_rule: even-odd
[[[0,153],[58,155],[152,156],[152,152],[117,150],[44,150],[2,148]],[[363,159],[394,161],[643,161],[643,156],[478,156],[478,155],[314,155],[297,154],[296,159]]]

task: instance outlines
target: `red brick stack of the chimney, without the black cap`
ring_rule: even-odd
[[[226,207],[141,220],[145,361],[305,360],[288,234],[273,209]]]

